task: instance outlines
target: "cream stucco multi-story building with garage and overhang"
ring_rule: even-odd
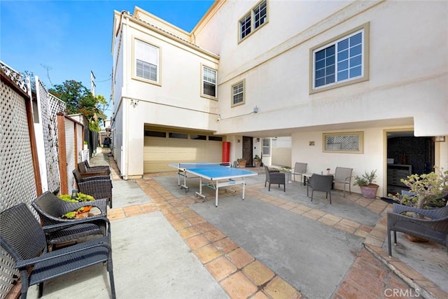
[[[115,12],[114,158],[132,179],[230,141],[270,165],[290,137],[291,166],[377,169],[386,195],[388,158],[448,169],[447,34],[447,1],[216,1],[190,33]]]

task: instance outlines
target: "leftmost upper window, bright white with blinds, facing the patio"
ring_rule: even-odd
[[[134,40],[135,76],[158,82],[159,78],[159,48]]]

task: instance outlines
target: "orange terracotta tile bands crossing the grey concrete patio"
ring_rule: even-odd
[[[120,179],[112,159],[110,165],[113,179]],[[302,294],[288,282],[190,209],[188,205],[198,200],[194,195],[178,198],[153,179],[155,176],[166,175],[169,174],[145,174],[144,178],[135,180],[152,202],[111,209],[108,218],[113,221],[161,211],[230,298],[302,298]],[[386,239],[385,217],[388,209],[391,209],[390,204],[381,200],[369,200],[354,193],[347,195],[353,203],[381,215],[377,225],[372,228],[302,204],[266,195],[260,192],[262,188],[262,184],[246,186],[246,195],[365,238],[365,248],[358,253],[332,299],[448,298],[447,293],[407,267],[405,263],[396,258],[388,258],[382,249]],[[230,194],[220,194],[220,197],[225,196]]]

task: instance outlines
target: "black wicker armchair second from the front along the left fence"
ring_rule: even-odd
[[[43,225],[53,225],[59,223],[71,223],[69,228],[47,230],[45,232],[47,244],[52,249],[55,245],[76,241],[82,237],[90,235],[106,235],[106,225],[104,221],[95,220],[98,217],[106,217],[106,199],[98,199],[91,202],[64,202],[56,195],[46,191],[38,196],[31,203],[37,214],[40,216]],[[63,219],[60,216],[69,211],[76,210],[80,207],[93,206],[97,207],[101,214],[91,216],[89,223],[76,224],[78,219]]]

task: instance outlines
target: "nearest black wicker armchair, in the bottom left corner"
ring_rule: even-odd
[[[29,286],[39,285],[39,298],[43,282],[98,263],[106,263],[111,284],[111,296],[116,298],[113,281],[112,246],[110,225],[107,218],[106,237],[48,252],[45,230],[24,203],[6,209],[0,214],[0,244],[15,260],[20,271],[22,299],[27,298]],[[81,223],[83,220],[80,221]],[[62,223],[51,228],[64,227]]]

